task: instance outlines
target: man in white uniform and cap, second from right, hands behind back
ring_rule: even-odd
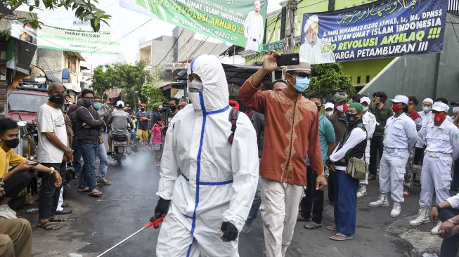
[[[408,112],[408,97],[396,95],[392,101],[394,116],[387,119],[384,128],[384,153],[380,162],[380,197],[368,204],[371,207],[389,207],[389,194],[394,206],[391,217],[401,213],[403,199],[403,181],[405,180],[406,162],[409,150],[415,147],[418,140],[416,124],[406,115]]]

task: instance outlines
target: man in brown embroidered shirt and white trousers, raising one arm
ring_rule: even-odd
[[[264,53],[263,67],[239,90],[239,99],[250,109],[264,114],[265,138],[261,159],[261,217],[266,256],[285,256],[297,221],[298,206],[306,186],[306,154],[317,175],[316,190],[327,182],[319,144],[319,112],[302,93],[309,87],[311,65],[302,62],[286,67],[287,89],[260,91],[264,77],[279,67],[276,51]],[[282,65],[282,63],[280,63]]]

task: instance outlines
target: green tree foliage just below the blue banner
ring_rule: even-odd
[[[331,91],[344,90],[347,91],[347,95],[356,93],[351,77],[343,73],[340,62],[312,65],[311,70],[313,77],[308,92],[329,95]]]

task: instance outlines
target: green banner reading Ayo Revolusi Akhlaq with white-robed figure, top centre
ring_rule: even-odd
[[[119,0],[119,5],[245,50],[262,50],[267,0]]]

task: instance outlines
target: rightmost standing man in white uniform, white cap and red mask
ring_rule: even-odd
[[[427,124],[425,135],[419,133],[419,140],[427,143],[427,148],[421,171],[420,210],[418,217],[410,221],[412,226],[429,222],[427,214],[434,192],[437,204],[450,197],[451,166],[459,157],[459,129],[446,119],[448,110],[448,105],[434,103],[434,122]],[[431,230],[432,235],[438,234],[440,225],[437,223]]]

